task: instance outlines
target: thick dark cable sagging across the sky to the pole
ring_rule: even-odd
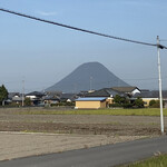
[[[32,16],[28,16],[28,14],[24,14],[24,13],[11,11],[11,10],[8,10],[8,9],[0,8],[0,11],[8,12],[8,13],[11,13],[11,14],[16,14],[16,16],[20,16],[20,17],[23,17],[23,18],[29,18],[29,19],[32,19],[32,20],[41,21],[41,22],[46,22],[46,23],[60,26],[60,27],[63,27],[63,28],[76,30],[76,31],[82,31],[82,32],[86,32],[86,33],[102,36],[102,37],[106,37],[106,38],[112,38],[112,39],[116,39],[116,40],[121,40],[121,41],[127,41],[127,42],[132,42],[132,43],[138,43],[138,45],[145,45],[145,46],[151,46],[151,47],[158,47],[160,49],[167,49],[167,47],[161,46],[161,45],[148,43],[148,42],[143,42],[143,41],[115,37],[115,36],[110,36],[110,35],[105,35],[105,33],[100,33],[100,32],[95,32],[95,31],[91,31],[91,30],[86,30],[86,29],[81,29],[81,28],[77,28],[77,27],[72,27],[72,26],[68,26],[68,24],[62,24],[62,23],[55,22],[55,21],[49,21],[49,20],[36,18],[36,17],[32,17]]]

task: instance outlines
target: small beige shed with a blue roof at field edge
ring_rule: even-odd
[[[76,109],[106,108],[106,98],[79,98],[76,100]]]

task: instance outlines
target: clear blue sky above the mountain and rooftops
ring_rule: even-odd
[[[167,40],[166,0],[0,0],[0,8],[116,37]],[[158,89],[157,49],[37,22],[0,11],[0,85],[42,90],[79,65],[98,61],[131,86]],[[161,41],[167,46],[167,41]],[[167,50],[160,51],[167,89]]]

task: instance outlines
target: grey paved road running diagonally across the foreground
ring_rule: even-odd
[[[1,161],[0,167],[111,167],[167,153],[167,136]]]

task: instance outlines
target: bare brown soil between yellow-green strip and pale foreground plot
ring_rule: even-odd
[[[160,135],[159,117],[107,115],[16,115],[14,110],[16,109],[0,109],[0,131],[119,136]],[[165,122],[167,122],[166,117]],[[165,124],[165,128],[166,127],[167,125]]]

